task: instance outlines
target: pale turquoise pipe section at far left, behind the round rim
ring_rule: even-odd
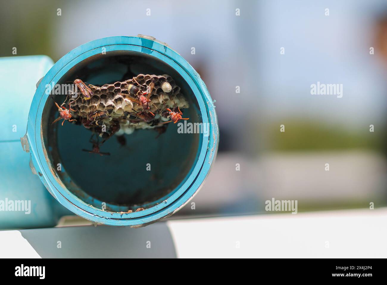
[[[0,58],[0,97],[17,99],[15,104],[3,104],[0,112],[0,203],[26,201],[29,204],[28,211],[2,209],[0,230],[51,227],[63,215],[72,214],[46,191],[39,176],[33,174],[30,155],[20,145],[36,83],[53,64],[45,55]],[[8,206],[5,204],[5,208]]]

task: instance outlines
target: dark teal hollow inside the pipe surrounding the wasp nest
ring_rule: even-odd
[[[183,77],[162,60],[140,52],[94,55],[72,67],[58,84],[79,78],[102,86],[138,74],[171,76],[189,103],[182,110],[183,117],[189,117],[190,123],[202,123],[198,102]],[[51,124],[59,113],[50,97],[61,105],[66,96],[50,95],[43,109],[41,135],[48,165],[62,187],[87,205],[101,209],[104,202],[111,212],[156,206],[183,185],[195,166],[202,134],[178,133],[177,123],[166,124],[162,134],[145,129],[113,135],[101,146],[101,152],[110,155],[82,151],[91,149],[92,132],[68,121],[63,126],[62,121]]]

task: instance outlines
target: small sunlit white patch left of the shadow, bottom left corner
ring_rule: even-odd
[[[41,258],[20,231],[0,231],[1,258]]]

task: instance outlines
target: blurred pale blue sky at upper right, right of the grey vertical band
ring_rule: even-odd
[[[262,1],[265,114],[356,125],[385,119],[386,70],[369,48],[375,47],[375,19],[386,7],[385,1]],[[343,84],[343,97],[310,95],[317,81]]]

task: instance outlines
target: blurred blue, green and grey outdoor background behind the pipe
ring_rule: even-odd
[[[144,34],[199,72],[219,152],[195,210],[172,218],[270,213],[272,198],[298,200],[298,212],[387,204],[384,0],[15,0],[2,1],[0,29],[2,57],[17,47],[57,61],[88,41]],[[342,98],[312,95],[317,82],[342,84]]]

